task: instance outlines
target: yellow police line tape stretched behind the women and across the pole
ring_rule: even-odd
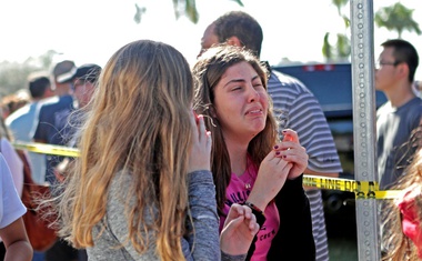
[[[42,154],[63,157],[79,157],[79,150],[63,145],[52,145],[37,142],[14,142],[17,149],[28,150]],[[303,175],[303,185],[322,190],[340,190],[354,192],[356,199],[396,199],[401,197],[400,190],[380,190],[374,181],[356,181],[340,178],[325,178],[320,175]]]

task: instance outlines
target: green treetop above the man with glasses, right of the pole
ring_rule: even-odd
[[[413,11],[413,9],[408,9],[398,2],[392,7],[380,9],[375,13],[374,21],[379,28],[384,27],[390,31],[398,31],[399,38],[402,37],[404,30],[414,31],[420,36],[421,29],[412,18]]]

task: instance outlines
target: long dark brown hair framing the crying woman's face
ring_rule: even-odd
[[[217,203],[220,214],[225,201],[225,189],[231,177],[230,155],[225,147],[221,124],[214,117],[214,88],[224,72],[232,66],[248,62],[258,72],[267,89],[268,71],[258,58],[247,48],[220,44],[208,49],[193,67],[194,99],[193,109],[205,116],[207,129],[212,134],[211,170],[217,187]],[[278,123],[272,114],[270,97],[265,128],[249,143],[248,153],[255,165],[271,151],[278,141]]]

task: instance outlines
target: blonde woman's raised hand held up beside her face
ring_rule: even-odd
[[[205,130],[203,116],[191,112],[192,149],[189,157],[188,172],[211,170],[211,132]]]

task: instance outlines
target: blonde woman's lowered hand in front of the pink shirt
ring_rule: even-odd
[[[259,229],[252,210],[247,205],[233,203],[220,234],[221,251],[231,255],[248,253]]]

